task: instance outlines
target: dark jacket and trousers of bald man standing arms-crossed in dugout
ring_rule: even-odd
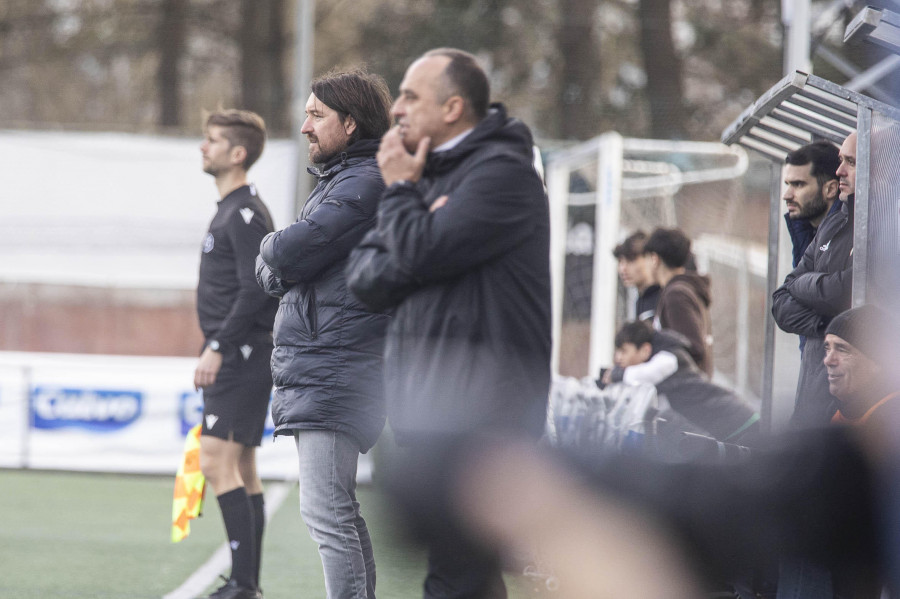
[[[782,330],[806,337],[791,424],[825,426],[837,407],[828,392],[825,328],[850,308],[853,281],[853,197],[822,221],[797,268],[772,294],[772,315]]]

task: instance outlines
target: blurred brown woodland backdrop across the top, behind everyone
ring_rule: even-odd
[[[259,112],[273,134],[284,134],[296,3],[0,0],[0,120],[187,132],[197,129],[200,108],[222,102]],[[364,63],[396,89],[412,59],[452,45],[483,61],[494,99],[540,137],[585,139],[615,129],[716,139],[781,77],[780,6],[781,0],[320,1],[315,72]],[[677,50],[676,30],[685,33]],[[830,38],[824,43],[860,68],[877,59]],[[846,81],[822,62],[817,74]]]

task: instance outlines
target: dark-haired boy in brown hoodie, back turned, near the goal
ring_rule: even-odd
[[[678,331],[690,342],[689,353],[707,376],[713,373],[709,277],[689,271],[691,240],[680,229],[657,228],[644,244],[653,277],[662,287],[653,325]]]

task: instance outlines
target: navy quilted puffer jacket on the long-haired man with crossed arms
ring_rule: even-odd
[[[375,224],[384,182],[377,140],[351,145],[324,169],[299,219],[267,235],[256,278],[281,297],[275,318],[272,417],[276,434],[295,429],[353,435],[365,452],[384,427],[382,352],[389,317],[348,291],[351,248]]]

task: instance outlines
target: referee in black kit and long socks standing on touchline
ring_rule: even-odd
[[[206,120],[203,170],[216,180],[218,211],[200,257],[197,314],[206,339],[194,371],[203,389],[200,467],[216,493],[231,547],[231,578],[210,595],[257,599],[265,525],[256,448],[272,390],[272,325],[278,302],[256,283],[262,238],[274,230],[269,210],[247,184],[266,139],[259,115],[221,110]]]

